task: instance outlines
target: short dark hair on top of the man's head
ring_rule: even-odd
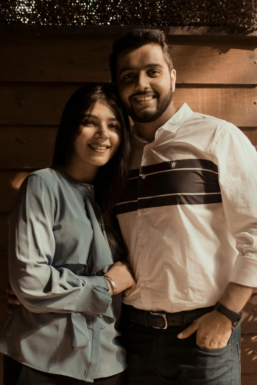
[[[112,46],[109,65],[112,75],[112,81],[116,82],[117,77],[117,57],[126,49],[138,49],[146,44],[157,44],[161,47],[163,57],[169,70],[173,69],[169,48],[166,43],[166,36],[161,30],[137,29],[123,33]]]

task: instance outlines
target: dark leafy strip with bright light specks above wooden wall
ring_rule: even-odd
[[[257,27],[257,1],[0,0],[0,24]]]

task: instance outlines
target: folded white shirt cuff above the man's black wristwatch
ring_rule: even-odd
[[[257,258],[241,256],[236,258],[230,282],[257,287]]]

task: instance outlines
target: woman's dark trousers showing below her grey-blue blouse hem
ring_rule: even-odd
[[[85,385],[85,381],[71,377],[40,372],[4,356],[3,385]],[[125,385],[125,372],[96,379],[97,385]]]

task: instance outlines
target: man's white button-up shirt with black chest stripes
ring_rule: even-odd
[[[257,153],[234,125],[184,103],[151,143],[133,130],[116,206],[137,285],[126,304],[168,313],[257,287]]]

